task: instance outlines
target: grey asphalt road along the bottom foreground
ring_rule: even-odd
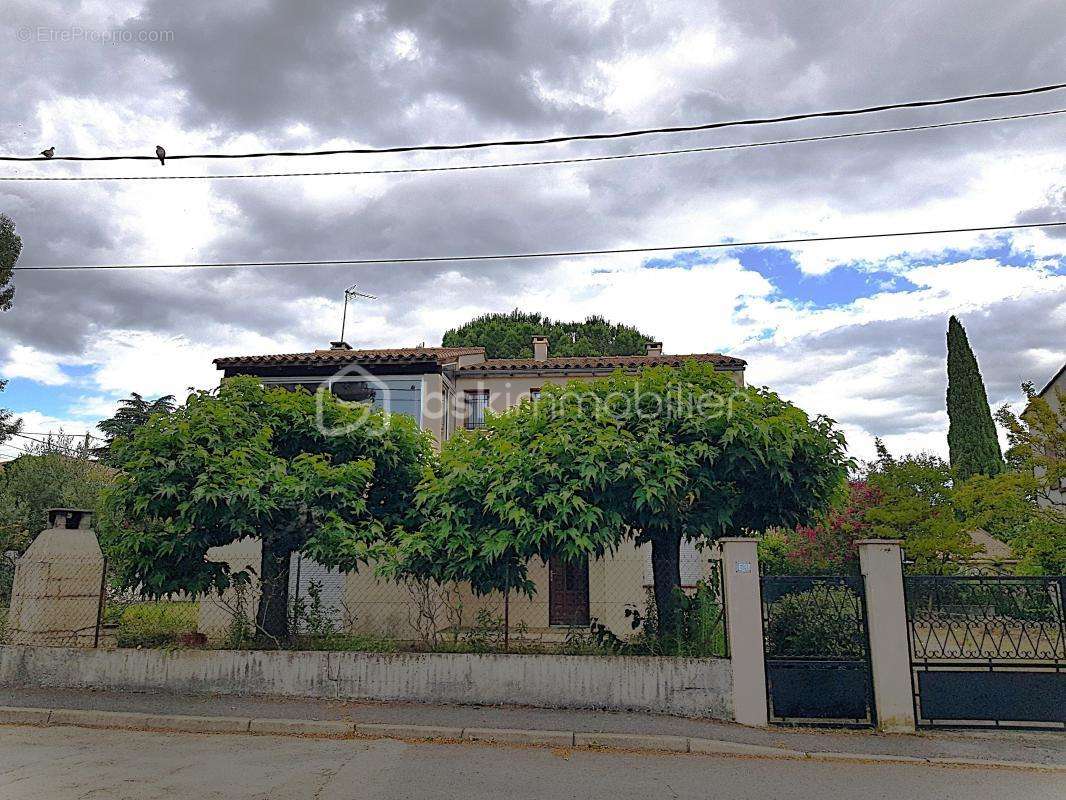
[[[0,798],[1062,798],[1036,771],[0,727]]]

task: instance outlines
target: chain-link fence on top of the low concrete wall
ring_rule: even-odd
[[[293,555],[263,581],[248,540],[211,551],[251,579],[225,592],[149,598],[97,559],[12,564],[0,583],[7,643],[81,646],[276,646],[361,651],[562,652],[724,656],[718,562],[684,545],[678,622],[660,629],[650,547],[534,561],[536,592],[474,595],[462,585],[389,581],[372,567],[330,570]],[[0,573],[2,575],[3,573]]]

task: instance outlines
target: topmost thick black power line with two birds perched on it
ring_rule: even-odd
[[[270,158],[270,157],[296,157],[296,156],[340,156],[340,155],[369,155],[384,153],[416,153],[429,150],[472,150],[485,147],[524,147],[538,144],[561,144],[563,142],[588,142],[605,139],[632,139],[633,137],[646,137],[656,133],[689,133],[699,130],[718,130],[722,128],[734,128],[750,125],[771,125],[776,123],[798,122],[801,119],[817,119],[835,116],[856,116],[859,114],[874,114],[882,111],[892,111],[895,109],[919,109],[932,108],[935,106],[951,106],[959,102],[970,102],[972,100],[989,100],[1004,97],[1023,97],[1028,95],[1045,94],[1066,89],[1066,83],[1051,83],[1044,86],[1031,86],[1029,89],[1010,90],[1004,92],[983,92],[973,95],[958,95],[956,97],[942,97],[933,100],[908,100],[906,102],[889,102],[878,106],[866,106],[856,109],[835,109],[831,111],[808,111],[798,114],[786,114],[784,116],[764,116],[748,119],[729,119],[718,123],[700,123],[698,125],[674,125],[658,128],[639,128],[632,130],[616,131],[612,133],[574,133],[561,137],[545,137],[542,139],[506,139],[489,140],[482,142],[464,142],[459,144],[417,144],[400,145],[392,147],[346,147],[329,150],[264,150],[259,153],[201,153],[189,155],[167,155],[171,161],[179,159],[242,159],[242,158]],[[46,158],[44,156],[0,156],[0,161],[155,161],[156,156],[54,156]]]

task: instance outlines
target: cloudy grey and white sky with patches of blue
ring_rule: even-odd
[[[0,154],[384,147],[550,137],[1066,81],[1057,0],[6,0]],[[698,147],[1066,109],[1066,92],[759,128],[458,154],[0,163],[0,176],[400,169]],[[1066,220],[1066,115],[565,166],[414,175],[0,181],[19,266],[409,257]],[[957,315],[989,402],[1066,361],[1066,229],[546,261],[22,272],[0,404],[94,431],[211,359],[439,343],[486,311],[600,314],[668,353],[747,359],[850,451],[947,452]],[[0,447],[0,458],[16,450]]]

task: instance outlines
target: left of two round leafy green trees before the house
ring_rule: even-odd
[[[208,561],[208,549],[256,538],[256,625],[275,640],[289,633],[291,555],[365,564],[406,524],[433,452],[409,417],[252,378],[190,395],[114,451],[123,473],[106,496],[104,545],[125,582],[150,595],[223,591],[249,576]]]

